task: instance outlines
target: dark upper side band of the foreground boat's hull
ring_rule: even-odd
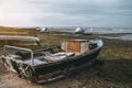
[[[77,67],[77,66],[84,65],[88,63],[89,61],[95,59],[98,56],[99,52],[100,52],[100,48],[90,54],[76,56],[72,59],[62,61],[59,63],[54,63],[54,64],[48,64],[48,65],[36,66],[34,67],[35,74],[36,76],[38,76],[38,75],[52,73],[58,69],[69,68],[72,66]]]

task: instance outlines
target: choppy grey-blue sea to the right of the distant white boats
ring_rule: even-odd
[[[86,29],[86,33],[100,34],[100,37],[132,41],[132,29]],[[106,34],[106,35],[101,35]]]

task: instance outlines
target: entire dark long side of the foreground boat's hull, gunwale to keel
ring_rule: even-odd
[[[86,55],[82,55],[82,56],[77,57],[75,59],[62,62],[62,63],[54,64],[51,66],[35,67],[35,76],[38,80],[37,82],[51,82],[54,80],[69,77],[74,74],[77,74],[77,73],[86,69],[87,67],[91,66],[96,62],[96,58],[97,58],[100,51],[101,51],[101,48],[98,48],[91,54],[86,54]],[[63,74],[57,75],[57,76],[53,76],[53,77],[47,78],[47,79],[42,78],[45,74],[54,73],[56,70],[65,70],[67,68],[69,68],[69,69]],[[43,76],[41,76],[41,75],[43,75]],[[41,76],[40,79],[38,79],[38,76]]]

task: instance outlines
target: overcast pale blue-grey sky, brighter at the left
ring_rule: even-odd
[[[132,28],[132,0],[0,0],[0,25]]]

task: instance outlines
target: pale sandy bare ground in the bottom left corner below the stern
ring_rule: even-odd
[[[42,88],[38,85],[28,82],[19,78],[15,74],[4,73],[0,75],[0,88]]]

